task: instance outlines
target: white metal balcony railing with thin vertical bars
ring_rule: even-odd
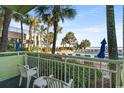
[[[30,67],[37,66],[40,76],[54,75],[55,78],[69,82],[74,80],[74,87],[120,87],[122,60],[94,59],[88,57],[50,55],[42,53],[27,54],[26,60]],[[37,55],[37,56],[36,56]],[[58,58],[56,58],[58,57]],[[116,69],[109,69],[113,64]],[[112,77],[115,77],[113,79]],[[114,81],[114,82],[113,82]]]

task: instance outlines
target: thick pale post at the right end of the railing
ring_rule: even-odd
[[[120,80],[121,80],[121,67],[120,63],[116,63],[116,87],[120,87]]]

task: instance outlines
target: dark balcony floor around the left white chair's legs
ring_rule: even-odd
[[[32,88],[34,79],[35,78],[31,79],[30,86],[29,86],[30,88]],[[11,78],[5,81],[1,81],[0,88],[26,88],[26,82],[27,80],[24,78],[22,80],[21,86],[19,87],[19,76],[17,76],[17,77],[14,77],[14,78]]]

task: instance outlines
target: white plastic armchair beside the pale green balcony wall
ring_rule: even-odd
[[[29,88],[31,77],[39,77],[38,68],[29,68],[29,65],[18,65],[20,70],[19,87],[21,86],[22,79],[27,78],[27,88]]]

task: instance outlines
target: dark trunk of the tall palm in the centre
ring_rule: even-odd
[[[58,15],[57,11],[59,11],[60,5],[54,5],[53,9],[53,15],[54,15],[54,38],[53,38],[53,46],[52,46],[52,54],[55,54],[55,49],[56,49],[56,37],[57,37],[57,28],[58,28]]]

